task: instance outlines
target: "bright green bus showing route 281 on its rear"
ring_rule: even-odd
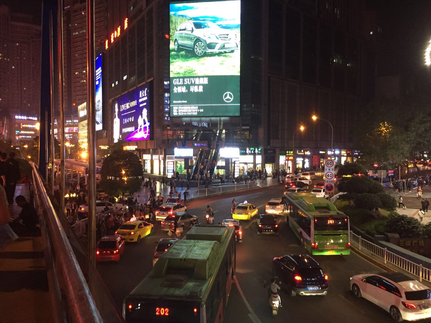
[[[349,255],[349,217],[311,193],[284,194],[289,227],[312,255]]]

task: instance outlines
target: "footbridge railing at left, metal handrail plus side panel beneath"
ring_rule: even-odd
[[[100,322],[102,317],[91,296],[87,281],[79,267],[78,261],[69,243],[66,232],[56,211],[48,198],[47,191],[42,183],[39,172],[33,164],[33,180],[35,199],[38,209],[41,211],[42,224],[46,227],[41,229],[44,241],[52,251],[45,252],[49,256],[47,268],[49,268],[50,290],[56,306],[54,316],[56,322]]]

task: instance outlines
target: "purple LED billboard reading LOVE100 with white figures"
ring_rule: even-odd
[[[146,83],[112,100],[114,143],[152,140],[152,83]]]

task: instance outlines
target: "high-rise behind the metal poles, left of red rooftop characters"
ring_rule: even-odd
[[[76,113],[87,101],[87,10],[86,0],[65,0],[63,9],[64,104],[67,113]],[[94,48],[106,39],[106,0],[96,0],[94,8]]]

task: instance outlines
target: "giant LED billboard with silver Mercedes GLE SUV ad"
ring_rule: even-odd
[[[240,115],[240,0],[169,5],[170,115]]]

